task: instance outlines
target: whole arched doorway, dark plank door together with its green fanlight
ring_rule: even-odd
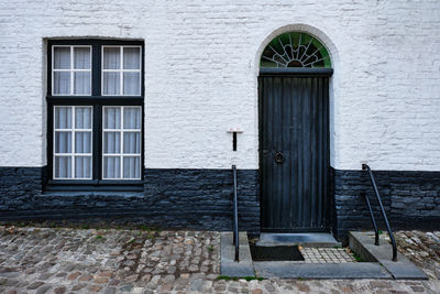
[[[260,61],[263,231],[329,228],[328,50],[304,32],[276,36]]]

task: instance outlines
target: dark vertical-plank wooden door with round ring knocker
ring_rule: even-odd
[[[329,77],[261,74],[262,230],[324,231]]]

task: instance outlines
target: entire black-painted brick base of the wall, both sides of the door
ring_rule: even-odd
[[[374,172],[394,229],[433,229],[440,221],[440,172]],[[366,172],[331,172],[331,230],[371,229],[360,194],[382,219]],[[145,170],[141,193],[45,192],[45,167],[0,167],[0,220],[98,219],[160,228],[232,230],[231,170]],[[240,229],[260,232],[258,171],[239,170]],[[382,224],[382,228],[383,224]]]

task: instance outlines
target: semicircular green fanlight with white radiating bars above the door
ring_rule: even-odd
[[[329,52],[316,37],[304,32],[289,32],[268,43],[260,66],[331,68],[331,61]]]

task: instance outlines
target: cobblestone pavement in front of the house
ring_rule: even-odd
[[[0,293],[439,293],[440,232],[396,239],[429,281],[226,281],[218,232],[0,226]]]

